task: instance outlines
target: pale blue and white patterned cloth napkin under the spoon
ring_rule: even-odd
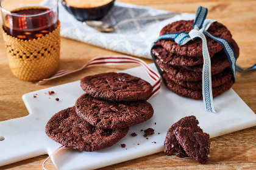
[[[51,0],[48,0],[51,1]],[[115,2],[114,7],[102,21],[114,24],[123,19],[137,18],[142,16],[154,16],[168,13],[164,10],[152,9],[123,2]],[[167,24],[180,19],[194,19],[194,14],[181,13],[173,18],[165,20],[132,21],[120,24],[115,32],[101,33],[97,30],[77,21],[69,14],[63,5],[59,4],[59,20],[61,23],[60,35],[77,41],[86,42],[94,46],[127,55],[151,58],[151,44],[157,39],[160,30]]]

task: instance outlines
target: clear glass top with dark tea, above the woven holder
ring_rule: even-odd
[[[35,39],[52,32],[58,24],[58,1],[2,0],[3,28],[20,39]]]

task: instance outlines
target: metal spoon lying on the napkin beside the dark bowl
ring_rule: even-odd
[[[151,19],[168,19],[172,18],[179,13],[166,13],[162,15],[155,15],[155,16],[144,16],[144,17],[138,17],[138,18],[130,18],[130,19],[124,19],[121,21],[116,22],[115,24],[108,24],[107,22],[103,21],[84,21],[84,25],[88,25],[92,27],[93,29],[98,30],[99,32],[113,32],[115,30],[115,27],[119,24],[124,24],[126,22],[130,21],[138,21],[138,20],[151,20]]]

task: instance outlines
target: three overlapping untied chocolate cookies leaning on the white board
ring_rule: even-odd
[[[154,113],[146,101],[153,87],[141,78],[101,73],[83,78],[80,85],[87,94],[46,124],[46,134],[69,148],[91,152],[112,146],[130,126],[148,120]]]

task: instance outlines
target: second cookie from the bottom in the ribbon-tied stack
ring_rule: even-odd
[[[166,73],[165,73],[166,74]],[[200,81],[179,81],[176,77],[166,74],[169,80],[173,81],[174,83],[178,84],[179,86],[186,87],[192,90],[202,90],[202,80]],[[230,68],[226,68],[222,72],[212,76],[212,87],[221,86],[224,83],[230,81],[233,77],[232,71]]]

